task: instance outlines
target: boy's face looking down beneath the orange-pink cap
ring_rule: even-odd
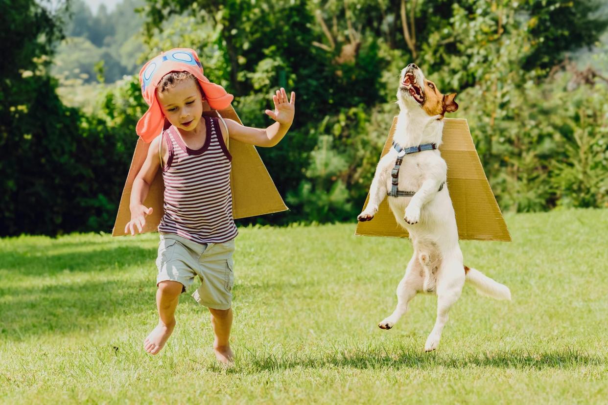
[[[162,112],[173,126],[193,131],[201,120],[202,95],[195,78],[179,81],[164,92],[156,90]]]

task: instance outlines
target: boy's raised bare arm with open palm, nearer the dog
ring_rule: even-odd
[[[226,120],[229,137],[243,143],[255,146],[275,146],[283,139],[294,120],[295,93],[291,92],[288,101],[285,89],[277,90],[272,96],[274,111],[266,110],[266,114],[277,121],[268,128],[252,128],[239,124],[234,120]]]

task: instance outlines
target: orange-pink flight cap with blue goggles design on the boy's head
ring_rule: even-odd
[[[165,115],[161,104],[156,99],[156,86],[162,77],[170,72],[188,72],[198,80],[204,92],[207,103],[212,109],[223,110],[232,103],[234,98],[228,94],[224,87],[211,83],[202,74],[202,64],[195,50],[189,48],[174,48],[148,61],[139,71],[139,83],[142,84],[143,99],[150,108],[137,121],[136,132],[143,141],[150,143],[161,134]]]

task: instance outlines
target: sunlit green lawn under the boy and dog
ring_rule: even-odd
[[[506,220],[514,242],[461,247],[513,301],[465,287],[433,353],[434,296],[376,325],[409,241],[356,237],[354,224],[241,228],[229,370],[187,294],[165,349],[143,352],[156,234],[0,239],[0,401],[607,403],[608,209]]]

